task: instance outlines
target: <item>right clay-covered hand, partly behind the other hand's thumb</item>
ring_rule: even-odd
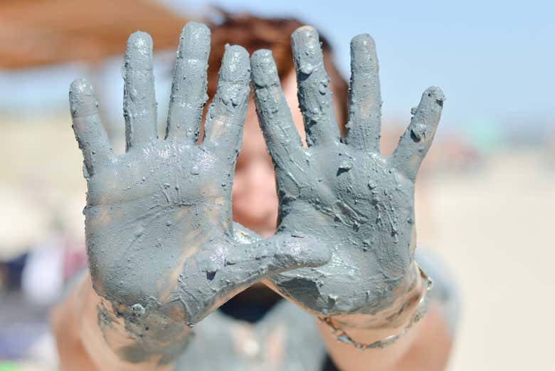
[[[428,88],[391,157],[380,155],[378,61],[369,35],[351,41],[349,122],[342,141],[317,32],[292,34],[307,148],[292,122],[270,51],[251,58],[258,117],[273,159],[280,201],[277,236],[312,236],[332,250],[327,265],[272,276],[277,289],[312,313],[386,308],[408,275],[416,231],[414,182],[445,99]],[[398,291],[398,290],[397,290]]]

